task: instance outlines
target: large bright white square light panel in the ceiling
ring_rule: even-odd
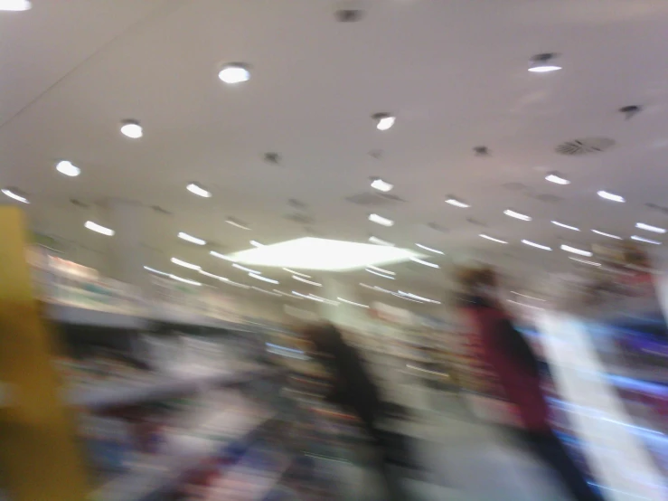
[[[403,262],[422,255],[397,247],[305,237],[236,252],[230,257],[250,266],[347,271]]]

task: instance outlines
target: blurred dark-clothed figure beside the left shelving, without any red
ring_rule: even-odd
[[[393,448],[390,433],[378,427],[382,413],[381,392],[368,373],[357,351],[348,345],[333,324],[312,325],[304,329],[318,356],[332,373],[332,391],[327,400],[351,409],[360,419],[363,430],[372,439],[378,453],[378,468],[391,500],[408,501],[396,473],[391,471]]]

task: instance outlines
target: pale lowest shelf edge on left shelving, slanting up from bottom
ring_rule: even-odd
[[[167,493],[177,487],[189,471],[215,454],[224,441],[248,440],[260,426],[274,416],[275,413],[268,412],[257,419],[249,420],[248,414],[240,412],[238,408],[215,413],[211,419],[203,421],[188,435],[172,437],[170,451],[113,478],[94,491],[90,498],[93,501],[144,501]],[[238,428],[237,434],[223,441],[202,437],[201,435],[207,434],[214,421],[233,421],[228,424]]]

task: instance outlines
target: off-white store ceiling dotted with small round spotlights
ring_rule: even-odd
[[[0,184],[29,194],[35,228],[99,252],[105,237],[82,226],[91,213],[101,217],[95,203],[122,197],[165,208],[174,215],[155,214],[146,235],[160,252],[154,266],[173,255],[205,269],[229,266],[178,241],[180,231],[224,251],[248,248],[249,239],[305,236],[303,224],[284,217],[296,213],[290,199],[306,204],[311,230],[324,237],[419,241],[446,251],[444,265],[474,256],[515,273],[569,264],[564,252],[534,250],[522,238],[590,245],[605,241],[590,228],[627,237],[638,221],[668,224],[645,206],[668,206],[663,0],[366,0],[362,21],[352,24],[334,20],[336,5],[33,0],[30,11],[0,13]],[[540,52],[560,53],[563,71],[527,71]],[[218,80],[230,61],[251,65],[251,80]],[[626,105],[644,110],[625,120],[617,109]],[[383,111],[398,117],[386,132],[370,118]],[[145,137],[121,136],[124,118],[140,120]],[[610,137],[616,146],[555,153],[580,137]],[[475,156],[481,145],[492,155]],[[281,164],[264,162],[266,152]],[[80,177],[58,174],[61,158],[79,165]],[[546,182],[551,170],[572,184]],[[396,221],[390,229],[345,200],[370,191],[372,175],[405,200],[375,209]],[[193,180],[212,198],[187,192]],[[600,189],[627,203],[600,199]],[[447,194],[472,207],[447,205]],[[541,194],[561,201],[541,202]],[[507,207],[534,220],[511,219]],[[228,216],[252,232],[225,224]],[[392,269],[399,283],[441,287],[433,269]]]

